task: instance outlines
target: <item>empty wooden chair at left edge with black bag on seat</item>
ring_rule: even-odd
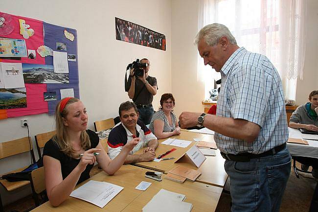
[[[25,137],[25,138],[13,140],[13,141],[1,142],[0,143],[0,160],[3,158],[18,155],[28,151],[31,151],[31,157],[34,163],[35,157],[34,157],[34,152],[32,148],[31,138],[29,137]],[[20,172],[26,167],[27,166],[19,168],[17,170],[12,170],[10,172]],[[0,180],[0,184],[8,192],[10,192],[30,184],[30,181],[25,180],[25,181],[9,182],[7,180]],[[1,195],[0,195],[0,212],[3,212]]]

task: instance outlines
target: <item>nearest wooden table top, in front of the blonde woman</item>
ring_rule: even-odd
[[[59,207],[52,207],[49,202],[46,202],[32,212],[140,212],[161,188],[186,195],[185,202],[193,204],[192,212],[215,211],[221,196],[221,188],[190,181],[180,184],[163,179],[159,182],[145,178],[146,171],[150,170],[133,165],[123,165],[113,176],[100,172],[91,177],[89,180],[106,181],[124,187],[104,208],[99,208],[84,200],[68,197]],[[141,181],[152,184],[146,191],[135,189]]]

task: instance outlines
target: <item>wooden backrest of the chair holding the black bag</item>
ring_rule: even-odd
[[[32,142],[30,137],[24,137],[13,141],[6,141],[0,143],[0,159],[18,155],[31,150],[31,156],[35,162]]]

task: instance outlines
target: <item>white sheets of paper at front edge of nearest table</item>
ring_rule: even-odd
[[[142,212],[190,212],[192,204],[183,202],[184,199],[183,194],[161,189],[143,207]]]

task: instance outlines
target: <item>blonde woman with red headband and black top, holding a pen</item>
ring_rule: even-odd
[[[90,178],[90,170],[96,161],[107,174],[114,174],[139,141],[136,138],[127,142],[119,155],[111,160],[97,134],[86,130],[87,111],[77,98],[67,97],[57,104],[55,121],[56,135],[46,142],[43,150],[46,193],[52,206],[59,206],[77,184]]]

